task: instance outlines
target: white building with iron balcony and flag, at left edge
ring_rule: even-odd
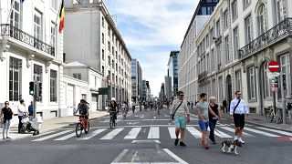
[[[58,33],[60,0],[0,1],[0,102],[10,102],[17,113],[26,106],[30,81],[42,83],[36,93],[36,114],[44,119],[61,116],[65,106],[60,81],[63,75],[63,34]],[[14,119],[18,121],[18,119]],[[16,122],[15,122],[16,123]]]

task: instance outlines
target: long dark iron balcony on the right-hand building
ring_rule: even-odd
[[[244,59],[248,56],[263,50],[268,46],[276,44],[278,41],[292,35],[292,18],[286,18],[278,25],[269,29],[262,36],[258,36],[248,45],[238,50],[239,59]]]

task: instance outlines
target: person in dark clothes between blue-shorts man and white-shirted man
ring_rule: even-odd
[[[209,127],[210,127],[210,135],[209,138],[213,144],[216,143],[214,138],[214,128],[216,127],[217,120],[221,121],[221,113],[219,106],[216,104],[216,98],[210,97],[210,104],[209,104]]]

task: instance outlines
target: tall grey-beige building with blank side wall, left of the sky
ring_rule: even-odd
[[[131,56],[103,0],[65,1],[65,9],[66,61],[78,61],[101,73],[99,88],[109,91],[99,98],[102,108],[111,97],[130,100]]]

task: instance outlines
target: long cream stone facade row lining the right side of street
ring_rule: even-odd
[[[179,69],[180,88],[190,90],[185,94],[192,100],[206,92],[221,105],[239,90],[250,112],[257,114],[272,106],[274,97],[279,106],[280,89],[272,92],[267,65],[271,60],[280,64],[279,71],[286,74],[285,96],[291,95],[291,17],[292,2],[287,0],[220,1],[197,36],[187,31],[179,56],[185,62]],[[185,72],[187,66],[194,66],[191,72]]]

